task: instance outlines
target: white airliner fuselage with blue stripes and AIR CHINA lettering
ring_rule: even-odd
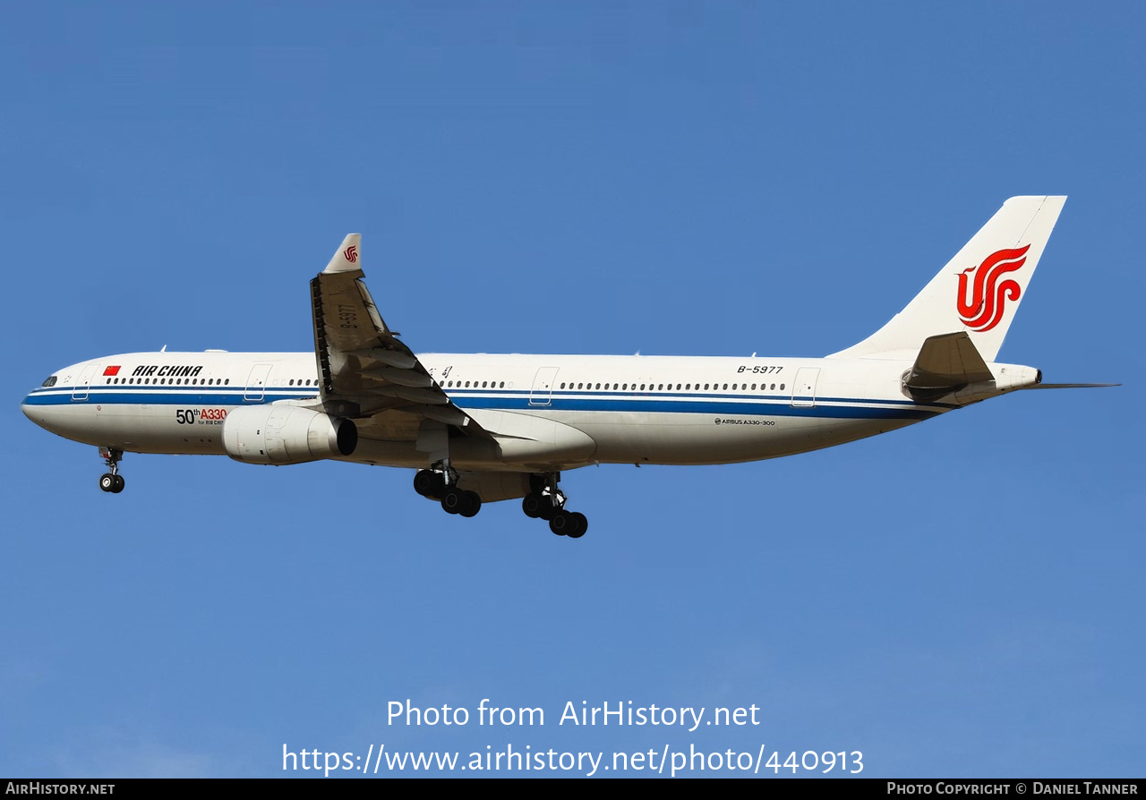
[[[418,359],[449,399],[501,444],[492,454],[468,449],[464,437],[453,440],[450,456],[461,469],[756,461],[862,439],[961,405],[951,397],[929,403],[905,397],[901,381],[909,361],[439,353]],[[131,353],[80,362],[53,378],[54,385],[25,398],[31,419],[69,439],[135,453],[225,454],[223,422],[234,409],[319,398],[313,353]],[[369,428],[345,460],[429,465],[409,437],[387,439]]]

